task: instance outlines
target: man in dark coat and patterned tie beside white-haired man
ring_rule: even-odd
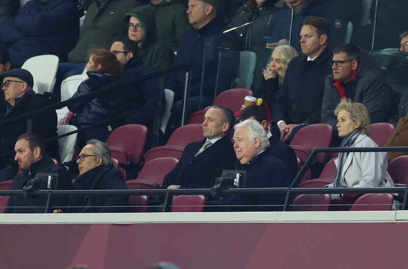
[[[186,146],[180,162],[164,177],[163,189],[207,189],[214,186],[223,169],[232,169],[235,154],[227,134],[233,121],[230,109],[211,106],[202,122],[206,139]]]

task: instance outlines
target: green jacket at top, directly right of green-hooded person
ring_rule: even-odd
[[[188,22],[187,0],[163,0],[155,5],[157,39],[161,40],[173,51],[177,50],[177,44],[190,23]]]

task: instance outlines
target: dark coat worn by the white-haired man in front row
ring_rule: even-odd
[[[273,157],[271,148],[253,157],[248,164],[240,164],[237,160],[235,169],[246,171],[247,188],[264,187],[288,187],[288,172],[285,165]],[[227,206],[230,211],[280,211],[282,206],[263,205],[283,205],[286,194],[258,194],[258,195],[233,195],[224,197],[222,205]],[[235,206],[231,206],[235,205]],[[237,205],[254,205],[237,206]]]

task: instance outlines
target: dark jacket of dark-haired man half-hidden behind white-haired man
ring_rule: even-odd
[[[276,124],[274,124],[276,125]],[[281,160],[288,171],[289,184],[293,181],[297,170],[297,158],[293,148],[279,139],[279,134],[272,134],[269,138],[269,152],[270,154]]]

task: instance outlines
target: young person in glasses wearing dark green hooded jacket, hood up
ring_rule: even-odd
[[[154,8],[146,5],[127,12],[123,17],[122,26],[122,37],[129,38],[138,44],[139,57],[143,65],[162,69],[172,64],[173,51],[167,44],[156,39]]]

